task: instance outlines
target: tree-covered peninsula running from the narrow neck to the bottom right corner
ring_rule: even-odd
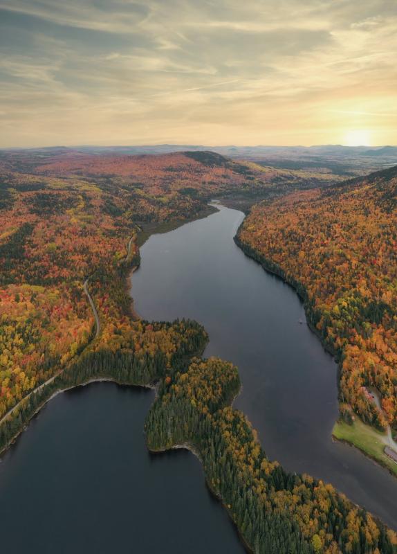
[[[331,485],[268,461],[243,413],[228,405],[238,391],[237,368],[220,359],[173,371],[147,416],[149,448],[192,447],[255,554],[395,553],[396,535]]]

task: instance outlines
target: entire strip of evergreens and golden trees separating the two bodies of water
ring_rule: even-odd
[[[396,535],[331,485],[288,474],[267,460],[243,413],[230,407],[240,387],[237,368],[216,358],[190,360],[207,341],[201,325],[192,321],[134,325],[133,341],[114,352],[94,341],[64,373],[26,398],[15,417],[1,425],[0,449],[57,391],[93,379],[130,385],[160,379],[145,424],[149,448],[158,451],[187,444],[199,453],[208,485],[252,552],[396,552]],[[138,344],[145,348],[137,348]]]

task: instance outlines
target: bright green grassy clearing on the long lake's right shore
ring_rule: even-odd
[[[386,434],[365,425],[357,417],[353,425],[337,421],[332,434],[336,439],[344,440],[360,449],[364,454],[384,465],[392,474],[397,476],[397,463],[392,461],[384,452]]]

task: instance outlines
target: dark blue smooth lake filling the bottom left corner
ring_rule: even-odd
[[[0,463],[2,553],[243,553],[199,461],[147,452],[153,399],[95,383],[47,404]]]

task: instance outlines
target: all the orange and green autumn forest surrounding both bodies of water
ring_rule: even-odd
[[[214,198],[243,206],[236,243],[293,285],[338,361],[335,438],[362,424],[393,445],[396,168],[346,179],[207,151],[50,148],[0,152],[0,450],[59,391],[95,379],[155,386],[147,446],[199,456],[249,551],[395,553],[396,533],[332,484],[267,458],[232,407],[238,368],[202,357],[210,338],[202,325],[136,314],[127,278],[142,243],[160,227],[206,217]],[[397,475],[389,456],[377,460]]]

